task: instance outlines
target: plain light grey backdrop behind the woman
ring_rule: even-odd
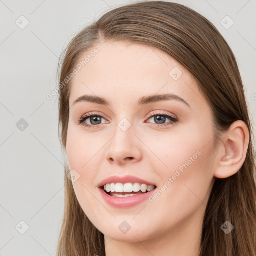
[[[0,255],[56,254],[66,159],[58,140],[57,96],[48,100],[46,94],[57,86],[58,57],[77,31],[132,2],[0,0]],[[208,18],[229,43],[255,127],[256,1],[175,2]],[[21,15],[29,21],[24,29],[15,23]],[[234,21],[229,29],[220,23],[226,15]],[[23,130],[21,118],[28,124]]]

